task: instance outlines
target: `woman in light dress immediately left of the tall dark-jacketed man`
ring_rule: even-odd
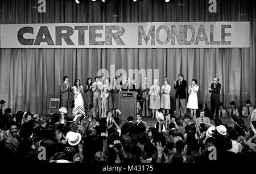
[[[171,92],[171,86],[169,85],[169,79],[166,78],[164,79],[164,84],[161,88],[162,96],[160,100],[160,108],[163,108],[164,116],[165,116],[165,113],[169,113],[169,109],[171,109],[170,92]]]

